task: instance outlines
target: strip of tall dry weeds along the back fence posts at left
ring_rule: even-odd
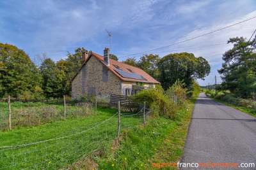
[[[7,130],[10,122],[12,127],[37,126],[70,117],[88,117],[93,114],[92,103],[67,104],[65,108],[60,105],[12,107],[12,116],[9,121],[8,108],[0,108],[0,130]]]

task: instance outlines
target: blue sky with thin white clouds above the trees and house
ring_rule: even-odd
[[[110,47],[107,29],[111,53],[119,61],[146,53],[204,57],[211,73],[197,81],[208,85],[214,76],[221,82],[217,70],[223,53],[232,48],[228,39],[252,36],[255,9],[255,0],[0,0],[0,43],[17,46],[32,60],[47,53],[58,61],[78,47],[103,55]]]

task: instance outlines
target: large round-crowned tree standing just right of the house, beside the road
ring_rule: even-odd
[[[164,56],[157,63],[159,81],[163,89],[171,87],[175,81],[185,83],[186,89],[193,90],[193,80],[204,79],[209,75],[211,67],[203,57],[196,58],[193,53],[173,53]]]

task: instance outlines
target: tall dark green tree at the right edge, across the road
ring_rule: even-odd
[[[246,38],[230,38],[228,43],[233,43],[232,49],[223,54],[222,68],[218,70],[221,74],[224,90],[230,90],[232,94],[239,97],[249,97],[255,91],[256,78],[252,73],[256,67],[255,38],[247,41]]]

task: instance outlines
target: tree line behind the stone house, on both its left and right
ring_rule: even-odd
[[[29,55],[14,45],[0,43],[0,98],[8,95],[20,98],[58,98],[71,94],[69,80],[82,64],[85,48],[67,53],[66,59],[54,62],[46,53],[37,55],[38,64]],[[116,55],[112,59],[118,60]],[[189,91],[197,78],[204,79],[211,67],[204,57],[193,53],[173,53],[160,58],[159,55],[145,54],[140,60],[127,58],[123,61],[143,69],[161,82],[163,89],[180,80]]]

